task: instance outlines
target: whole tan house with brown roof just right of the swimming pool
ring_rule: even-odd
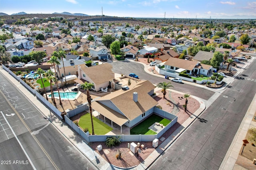
[[[100,91],[101,88],[108,87],[110,82],[114,81],[112,65],[104,63],[92,67],[78,67],[78,79],[93,83],[92,89]]]

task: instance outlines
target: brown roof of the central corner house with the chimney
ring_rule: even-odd
[[[139,81],[129,86],[127,91],[118,90],[110,93],[96,101],[111,101],[130,121],[142,115],[158,103],[148,93],[154,89],[149,81]],[[138,102],[134,102],[133,93],[138,93]]]

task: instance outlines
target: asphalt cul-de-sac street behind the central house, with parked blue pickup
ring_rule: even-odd
[[[146,71],[144,71],[144,65],[136,62],[113,62],[111,63],[113,69],[112,71],[114,73],[129,75],[130,73],[135,73],[139,76],[142,80],[148,80],[153,84],[158,84],[162,82],[171,82],[174,87],[172,89],[176,91],[180,91],[182,93],[194,95],[196,97],[199,97],[204,100],[210,99],[212,95],[214,94],[213,91],[210,91],[208,89],[200,88],[197,86],[189,85],[186,83],[176,83],[172,82],[171,80],[164,79],[162,77],[157,77],[151,74],[148,74]]]

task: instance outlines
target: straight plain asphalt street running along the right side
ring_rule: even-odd
[[[152,170],[218,170],[256,93],[256,61],[154,162]]]

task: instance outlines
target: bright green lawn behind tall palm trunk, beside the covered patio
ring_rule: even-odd
[[[95,134],[104,135],[110,132],[111,130],[113,130],[113,128],[109,127],[104,122],[97,119],[96,117],[93,117],[92,120],[93,120],[93,127],[94,127]],[[88,128],[89,133],[92,134],[92,123],[91,123],[90,113],[86,113],[85,115],[81,116],[78,122],[78,125],[83,129]]]

